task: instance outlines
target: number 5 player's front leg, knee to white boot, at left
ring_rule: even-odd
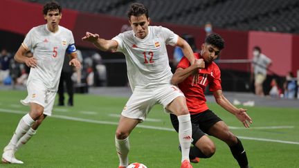
[[[28,132],[31,125],[35,122],[35,120],[37,120],[40,117],[40,115],[42,115],[43,112],[43,106],[36,103],[30,103],[30,112],[24,115],[23,118],[21,118],[10,142],[3,149],[2,162],[23,164],[21,160],[17,160],[15,158],[15,148],[17,142]]]

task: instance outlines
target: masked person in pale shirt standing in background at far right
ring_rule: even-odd
[[[253,74],[255,77],[255,95],[264,96],[263,86],[266,80],[266,72],[271,66],[271,59],[262,54],[259,46],[253,48]]]

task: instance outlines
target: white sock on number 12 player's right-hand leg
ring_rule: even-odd
[[[179,142],[181,144],[182,159],[189,160],[190,144],[192,140],[192,127],[190,114],[179,115]]]

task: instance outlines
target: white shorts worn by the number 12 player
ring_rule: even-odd
[[[185,97],[181,90],[172,84],[164,84],[154,88],[135,88],[121,115],[126,118],[145,120],[155,104],[162,104],[165,109],[179,96]]]

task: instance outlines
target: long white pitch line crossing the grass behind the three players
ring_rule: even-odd
[[[16,110],[10,110],[10,109],[0,109],[0,112],[2,112],[2,113],[16,113],[16,114],[25,114],[26,113],[24,111],[16,111]],[[65,120],[80,121],[80,122],[90,122],[90,123],[95,123],[95,124],[111,124],[111,125],[117,125],[118,124],[118,122],[89,120],[89,119],[83,119],[83,118],[68,117],[68,116],[65,116],[65,115],[52,115],[51,117],[65,119]],[[137,125],[137,127],[144,128],[144,129],[174,131],[174,129],[169,129],[169,128],[165,128],[165,127],[147,126],[147,125]],[[244,139],[244,140],[257,140],[257,141],[264,141],[264,142],[278,142],[278,143],[283,143],[283,144],[299,144],[299,142],[286,141],[286,140],[273,140],[273,139],[254,138],[254,137],[246,137],[246,136],[237,136],[237,137],[240,138],[240,139]]]

